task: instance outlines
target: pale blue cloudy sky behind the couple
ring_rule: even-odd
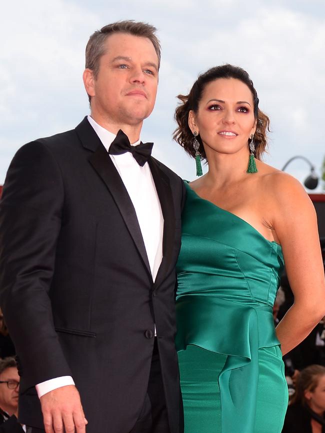
[[[115,3],[115,4],[113,4]],[[111,5],[113,4],[113,5]],[[82,84],[89,35],[120,19],[158,29],[162,61],[156,106],[141,138],[186,179],[194,161],[172,141],[176,95],[208,67],[245,68],[271,120],[265,162],[281,168],[293,155],[319,174],[325,156],[325,5],[323,0],[11,1],[1,5],[0,183],[18,147],[73,128],[89,112]],[[287,171],[303,180],[308,166]],[[318,191],[321,190],[319,186]]]

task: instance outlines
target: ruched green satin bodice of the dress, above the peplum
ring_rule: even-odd
[[[187,183],[186,183],[187,185]],[[177,298],[222,297],[273,306],[283,270],[281,246],[243,219],[200,198],[187,185],[177,263]]]

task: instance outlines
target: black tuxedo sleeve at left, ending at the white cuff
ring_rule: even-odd
[[[71,375],[53,325],[50,285],[64,190],[50,150],[22,146],[0,202],[0,306],[18,356],[20,390]]]

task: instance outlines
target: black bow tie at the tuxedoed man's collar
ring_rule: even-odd
[[[115,139],[109,146],[108,153],[111,155],[121,155],[125,152],[131,152],[136,162],[143,167],[148,157],[151,155],[153,143],[142,143],[137,146],[131,146],[127,135],[119,129]]]

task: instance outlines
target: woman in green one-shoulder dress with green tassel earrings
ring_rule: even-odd
[[[269,120],[247,72],[213,67],[179,98],[174,138],[197,174],[208,163],[186,182],[177,264],[185,433],[279,433],[282,353],[325,313],[315,211],[297,180],[260,160]],[[295,301],[275,330],[284,262]]]

